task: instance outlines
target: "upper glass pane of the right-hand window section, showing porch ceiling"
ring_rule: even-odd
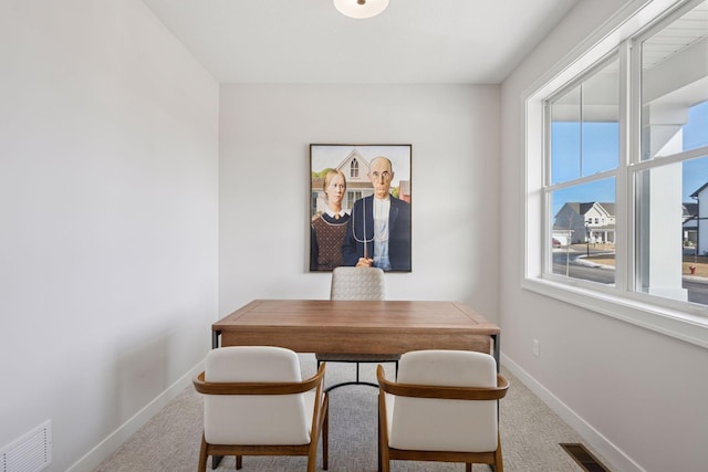
[[[642,160],[708,144],[708,1],[642,43]]]

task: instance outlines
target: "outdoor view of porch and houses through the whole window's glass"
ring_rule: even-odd
[[[545,102],[544,272],[708,305],[708,1],[629,45]]]

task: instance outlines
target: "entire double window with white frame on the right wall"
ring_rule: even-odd
[[[524,287],[685,337],[708,327],[708,0],[598,38],[527,99]]]

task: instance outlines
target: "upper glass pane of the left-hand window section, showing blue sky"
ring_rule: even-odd
[[[552,183],[617,168],[618,91],[614,60],[551,103]]]

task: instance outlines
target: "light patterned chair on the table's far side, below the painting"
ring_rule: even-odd
[[[378,268],[335,268],[332,271],[330,300],[386,300],[384,271]],[[327,388],[327,391],[331,391],[345,385],[368,385],[377,388],[376,384],[360,380],[360,364],[395,363],[397,371],[400,355],[315,353],[315,358],[317,359],[317,366],[324,361],[356,364],[356,380],[333,385]]]

